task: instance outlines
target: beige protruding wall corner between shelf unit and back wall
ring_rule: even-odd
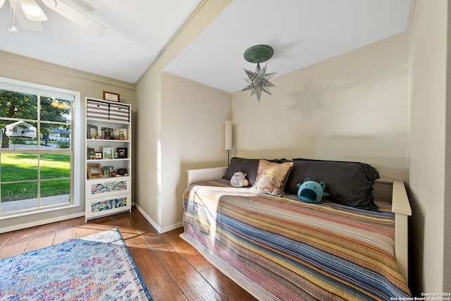
[[[169,73],[161,75],[161,103],[140,104],[137,205],[158,231],[182,226],[187,169],[227,165],[231,104],[229,93]]]

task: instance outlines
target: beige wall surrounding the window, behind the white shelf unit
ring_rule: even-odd
[[[111,78],[104,78],[99,75],[85,73],[80,70],[70,69],[35,59],[29,59],[24,56],[18,56],[8,52],[0,51],[0,76],[25,82],[34,82],[40,85],[59,87],[68,90],[80,92],[81,108],[85,106],[85,97],[94,97],[101,99],[103,91],[116,92],[121,94],[121,102],[135,104],[135,85]],[[132,112],[134,114],[134,112]],[[85,122],[85,116],[82,116],[82,124]],[[78,149],[82,160],[85,158],[85,130],[82,125],[82,145]],[[82,173],[80,178],[82,192],[85,191],[84,167],[81,166]],[[85,215],[85,199],[83,193],[81,207],[66,209],[61,211],[52,211],[43,214],[33,214],[16,219],[6,219],[0,221],[0,232],[2,229],[11,231],[13,229],[23,228],[24,226],[34,226],[51,221],[67,219],[73,216]]]

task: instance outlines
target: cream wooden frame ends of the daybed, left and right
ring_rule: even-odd
[[[190,169],[188,173],[188,185],[223,178],[227,166]],[[392,203],[392,212],[395,214],[395,254],[396,262],[406,283],[408,283],[408,225],[407,217],[412,216],[409,198],[400,180],[379,179],[374,182],[373,196]]]

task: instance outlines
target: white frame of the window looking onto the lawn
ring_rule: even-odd
[[[74,207],[81,206],[81,197],[82,190],[82,171],[84,171],[84,166],[82,165],[82,110],[81,110],[81,95],[79,91],[68,90],[59,87],[52,87],[48,85],[41,85],[33,82],[25,82],[21,80],[13,80],[10,78],[2,78],[0,77],[0,90],[9,90],[13,92],[20,92],[26,94],[37,94],[39,96],[44,97],[55,97],[59,99],[67,99],[73,97],[72,104],[72,120],[71,120],[71,128],[70,128],[70,136],[71,136],[71,144],[69,151],[63,152],[71,152],[71,160],[70,160],[70,171],[71,171],[71,179],[70,183],[72,183],[72,187],[70,188],[70,200],[71,202],[66,204],[61,204],[56,207],[38,207],[34,209],[28,209],[23,211],[14,211],[11,213],[1,214],[0,221],[4,219],[13,219],[20,216],[29,216],[32,214],[42,214],[44,212],[49,211],[59,211],[70,209]],[[71,100],[71,99],[70,99]],[[38,112],[39,113],[39,112]],[[49,121],[40,121],[44,123],[49,123]],[[51,123],[51,121],[50,121]],[[39,135],[39,134],[38,134]],[[84,137],[84,136],[83,136]],[[1,150],[1,149],[0,149]],[[27,149],[3,149],[1,152],[4,153],[23,153],[23,152],[32,152],[35,154],[51,154],[53,152],[58,152],[58,149],[51,150],[50,152],[42,152],[42,148],[27,150]],[[60,151],[61,152],[61,151]],[[40,179],[38,179],[40,180]]]

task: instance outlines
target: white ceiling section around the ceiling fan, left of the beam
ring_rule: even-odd
[[[135,83],[201,0],[63,0],[107,28],[97,37],[35,0],[44,31],[8,33],[10,5],[0,8],[0,49]],[[20,5],[16,5],[20,12]],[[33,22],[33,21],[30,21]],[[1,66],[0,66],[1,68]]]

